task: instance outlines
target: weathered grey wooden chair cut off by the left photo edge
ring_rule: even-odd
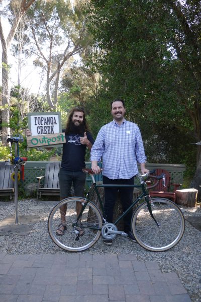
[[[0,196],[14,196],[14,181],[11,178],[14,172],[14,165],[7,165],[5,162],[0,163]]]

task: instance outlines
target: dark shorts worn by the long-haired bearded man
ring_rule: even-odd
[[[85,179],[86,175],[82,171],[69,171],[61,168],[59,171],[60,197],[69,197],[72,184],[75,196],[84,197]]]

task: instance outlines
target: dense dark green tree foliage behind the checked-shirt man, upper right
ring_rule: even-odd
[[[121,97],[126,118],[141,129],[148,161],[185,164],[191,176],[197,149],[190,142],[201,140],[197,7],[197,2],[88,2],[96,47],[89,64],[102,77],[90,102],[94,131],[111,120],[109,103]]]

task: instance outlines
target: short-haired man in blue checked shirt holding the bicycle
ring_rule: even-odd
[[[100,168],[97,163],[103,161],[104,184],[134,184],[134,176],[138,174],[137,162],[142,174],[149,172],[145,168],[142,136],[137,124],[124,118],[126,109],[121,99],[111,103],[113,121],[100,128],[91,148],[91,169],[97,174]],[[108,222],[113,222],[113,208],[120,192],[120,199],[125,212],[133,200],[133,188],[105,188],[105,215]],[[130,211],[124,218],[124,231],[135,241],[131,232]],[[104,243],[112,245],[112,240],[104,239]]]

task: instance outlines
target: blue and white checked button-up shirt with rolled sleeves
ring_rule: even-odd
[[[91,161],[103,161],[103,175],[129,179],[138,174],[137,162],[145,163],[142,136],[137,124],[112,121],[100,128],[91,148]]]

